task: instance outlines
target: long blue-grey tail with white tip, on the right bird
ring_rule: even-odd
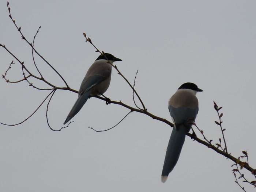
[[[165,183],[167,180],[169,173],[173,170],[178,161],[178,158],[180,157],[180,152],[185,141],[187,130],[188,127],[185,127],[184,125],[180,125],[178,130],[173,128],[165,154],[165,162],[163,163],[163,171],[161,177],[161,181],[163,183]]]

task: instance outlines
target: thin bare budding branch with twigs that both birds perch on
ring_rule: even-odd
[[[8,6],[8,5],[7,5],[7,6]],[[8,6],[8,10],[9,10],[9,14],[10,14],[9,16],[10,16],[12,22],[15,24],[15,20],[13,20],[13,19],[12,19],[12,16],[11,16],[10,7],[9,7],[9,6]],[[18,27],[16,24],[15,24],[15,27],[18,29],[18,31],[19,31],[20,34],[22,35],[22,39],[24,39],[27,43],[29,43],[29,42],[27,41],[27,39],[24,37],[24,35],[22,34],[22,32],[21,32],[21,27]],[[39,28],[40,28],[40,27],[39,27]],[[39,28],[38,28],[38,31],[39,31]],[[53,84],[51,84],[50,82],[46,81],[46,80],[43,78],[43,76],[42,76],[42,74],[40,73],[40,71],[39,71],[38,68],[37,68],[37,70],[38,70],[38,72],[39,72],[39,74],[40,74],[41,77],[38,77],[38,76],[32,74],[32,73],[26,68],[24,62],[21,62],[13,53],[11,53],[11,51],[9,51],[9,50],[5,47],[5,45],[0,44],[0,46],[1,46],[1,47],[4,47],[4,49],[5,49],[9,54],[11,54],[11,55],[20,63],[20,65],[21,65],[22,75],[23,75],[24,78],[23,78],[22,80],[19,80],[19,81],[16,81],[16,82],[21,82],[21,81],[26,80],[26,81],[29,83],[29,86],[31,86],[31,87],[37,88],[37,89],[39,89],[39,90],[51,90],[50,94],[45,98],[45,100],[46,100],[46,99],[50,96],[50,99],[49,99],[48,104],[47,104],[47,107],[46,107],[46,121],[47,121],[47,124],[48,124],[48,126],[49,126],[49,128],[50,128],[51,130],[53,130],[53,131],[60,131],[61,129],[68,127],[69,124],[72,123],[72,122],[69,122],[68,126],[66,126],[66,127],[61,127],[59,130],[54,130],[54,129],[50,126],[50,124],[49,124],[49,119],[48,119],[48,108],[49,108],[50,101],[51,101],[51,99],[52,99],[54,93],[55,93],[56,90],[58,90],[58,89],[60,89],[60,90],[68,90],[68,91],[72,91],[72,92],[75,92],[75,93],[78,93],[78,91],[76,91],[75,89],[71,89],[70,87],[68,87],[67,82],[66,82],[66,81],[64,80],[64,78],[57,72],[57,70],[55,70],[55,69],[53,68],[53,66],[50,65],[49,62],[47,62],[46,59],[45,59],[44,57],[42,57],[42,55],[39,54],[39,53],[34,49],[34,41],[35,41],[36,35],[38,34],[38,31],[37,31],[37,33],[36,33],[35,36],[34,36],[33,43],[29,43],[29,45],[32,47],[32,56],[33,56],[34,65],[35,65],[35,67],[37,68],[37,65],[36,65],[35,59],[34,59],[34,53],[36,53],[39,57],[41,57],[41,58],[46,62],[46,64],[48,64],[48,65],[61,77],[61,79],[64,81],[66,87],[57,87],[56,85],[53,85]],[[84,37],[86,38],[86,41],[88,41],[91,45],[94,46],[94,48],[96,49],[96,52],[99,52],[99,53],[101,53],[101,54],[105,54],[103,51],[99,51],[99,49],[92,43],[91,39],[86,37],[86,34],[85,34],[85,33],[83,33],[83,34],[84,34]],[[106,59],[107,59],[107,58],[106,58]],[[109,61],[108,61],[108,62],[109,62]],[[11,64],[12,64],[12,63],[13,63],[13,62],[11,62]],[[136,76],[137,76],[137,74],[138,74],[138,70],[137,70],[137,72],[136,72],[136,75],[135,75],[135,78],[134,78],[134,82],[133,82],[133,85],[132,85],[132,84],[127,80],[127,78],[125,78],[124,75],[118,70],[118,68],[117,68],[116,65],[113,65],[113,64],[112,64],[112,66],[117,70],[118,74],[120,74],[120,75],[123,77],[123,79],[127,82],[127,84],[129,85],[129,87],[132,88],[132,91],[133,91],[132,97],[133,97],[133,101],[134,101],[134,104],[135,104],[136,108],[135,108],[135,107],[131,107],[131,106],[129,106],[129,105],[127,105],[127,104],[121,102],[121,100],[120,100],[120,101],[112,101],[112,100],[110,100],[109,98],[105,97],[104,95],[102,95],[103,97],[101,97],[101,96],[94,96],[94,97],[96,97],[97,99],[106,101],[106,104],[111,104],[111,103],[113,103],[113,104],[117,104],[117,105],[120,105],[120,106],[122,106],[122,107],[125,107],[125,108],[129,109],[129,113],[128,113],[127,115],[125,115],[125,117],[124,117],[122,120],[120,120],[120,122],[118,122],[115,126],[109,128],[109,129],[107,129],[107,130],[97,131],[97,130],[95,130],[95,129],[92,128],[92,127],[89,127],[89,128],[93,129],[93,130],[96,131],[96,132],[108,131],[108,130],[110,130],[110,129],[116,127],[119,123],[121,123],[121,122],[122,122],[131,112],[133,112],[133,111],[139,112],[139,113],[142,113],[142,114],[145,114],[145,115],[147,115],[147,116],[149,116],[149,117],[151,117],[151,118],[153,118],[153,119],[156,119],[156,120],[159,120],[159,121],[161,121],[161,122],[163,122],[163,123],[166,123],[166,124],[167,124],[168,126],[170,126],[170,127],[173,127],[173,124],[172,124],[171,122],[169,122],[168,120],[166,120],[166,119],[164,119],[164,118],[161,118],[161,117],[158,117],[158,116],[156,116],[156,115],[153,115],[152,113],[150,113],[150,112],[147,111],[145,105],[143,104],[142,99],[139,97],[138,93],[137,93],[136,90],[135,90],[135,80],[136,80]],[[3,75],[3,78],[4,78],[5,80],[7,80],[7,79],[5,78],[5,76],[6,76],[6,74],[7,74],[7,71],[8,71],[10,68],[11,68],[11,65],[10,65],[9,68],[6,70],[5,74]],[[25,73],[26,73],[26,75],[25,75]],[[27,74],[27,73],[28,73],[28,74]],[[43,81],[43,82],[45,82],[45,84],[49,85],[51,88],[50,88],[50,89],[41,89],[41,88],[38,88],[38,87],[34,86],[34,85],[29,81],[31,78],[32,78],[32,79],[34,78],[34,79]],[[7,82],[10,82],[10,81],[8,80]],[[16,82],[13,81],[13,83],[16,83]],[[134,94],[134,93],[135,93],[135,94]],[[136,96],[138,97],[138,99],[139,99],[140,103],[142,104],[143,108],[138,107],[138,105],[135,103],[134,95],[136,95]],[[45,101],[45,100],[44,100],[44,101]],[[41,107],[41,105],[44,103],[44,101],[39,105],[39,107]],[[39,108],[39,107],[38,107],[38,108]],[[38,110],[38,108],[33,112],[33,114]],[[220,142],[220,143],[217,143],[217,144],[218,144],[218,145],[216,144],[217,146],[212,145],[212,144],[211,144],[211,141],[212,141],[212,140],[208,141],[208,139],[206,139],[206,137],[205,137],[205,135],[204,135],[204,133],[203,133],[203,130],[200,130],[200,129],[196,126],[196,124],[195,124],[195,126],[196,126],[197,129],[200,131],[200,133],[203,135],[203,138],[204,138],[205,141],[203,141],[202,139],[198,138],[194,132],[193,132],[192,134],[187,133],[187,135],[188,135],[189,137],[191,137],[192,139],[196,140],[197,142],[199,142],[199,143],[201,143],[201,144],[203,144],[203,145],[205,145],[205,146],[211,148],[211,149],[214,150],[215,152],[217,152],[217,153],[223,155],[224,157],[229,158],[230,160],[234,161],[234,162],[236,163],[237,167],[238,167],[238,165],[240,165],[240,168],[245,168],[245,169],[249,170],[249,171],[254,175],[254,177],[256,178],[256,170],[253,169],[251,166],[249,166],[248,156],[246,156],[246,155],[243,156],[243,157],[246,157],[246,158],[247,158],[247,163],[246,163],[246,162],[240,161],[240,157],[242,158],[242,156],[240,156],[240,157],[238,157],[238,158],[235,158],[235,157],[233,157],[233,156],[231,155],[231,153],[230,153],[230,154],[227,153],[226,140],[225,140],[225,137],[224,137],[224,134],[223,134],[223,132],[225,131],[225,128],[224,128],[224,129],[222,128],[222,121],[221,121],[221,118],[222,118],[223,114],[222,114],[222,113],[219,114],[219,110],[221,110],[222,107],[219,107],[219,108],[218,108],[218,105],[214,102],[214,108],[215,108],[215,110],[218,112],[219,122],[216,122],[216,123],[221,127],[223,140],[222,140],[221,138],[219,138],[219,142]],[[33,115],[33,114],[32,114],[32,115]],[[31,115],[31,116],[32,116],[32,115]],[[30,118],[31,116],[29,116],[29,118]],[[27,118],[27,119],[29,119],[29,118]],[[24,121],[26,121],[27,119],[25,119]],[[24,122],[24,121],[23,121],[23,122]],[[21,122],[21,123],[23,123],[23,122]],[[18,124],[21,124],[21,123],[18,123]],[[1,124],[4,124],[4,123],[1,123]],[[11,124],[10,124],[10,125],[9,125],[9,124],[4,124],[4,125],[15,126],[15,125],[18,125],[18,124],[12,124],[12,125],[11,125]],[[225,148],[224,148],[224,149],[223,149],[222,146],[221,146],[221,142],[222,142],[222,141],[224,141],[224,143],[225,143]],[[220,149],[219,149],[219,147],[220,147]],[[221,150],[221,149],[222,149],[222,150]],[[243,152],[243,153],[244,153],[244,152]],[[244,153],[244,154],[245,154],[245,153]],[[239,171],[239,169],[238,169],[238,171]],[[242,176],[242,173],[241,173],[240,175]],[[240,178],[241,178],[241,177],[240,177]],[[236,180],[237,180],[237,178],[236,178]],[[238,178],[238,180],[239,180],[239,178]],[[238,183],[238,181],[236,181],[236,182]],[[246,182],[249,182],[249,181],[247,180]],[[254,185],[255,185],[254,181],[251,181],[251,184],[254,184]],[[241,187],[241,185],[240,185],[240,187]],[[242,188],[242,187],[241,187],[241,188]]]

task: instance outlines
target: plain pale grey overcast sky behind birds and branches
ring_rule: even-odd
[[[214,143],[221,137],[213,100],[223,106],[227,147],[238,157],[247,150],[256,167],[255,71],[256,1],[104,1],[10,0],[12,17],[31,42],[78,90],[87,69],[98,57],[82,32],[95,45],[122,62],[115,64],[133,81],[148,111],[171,121],[167,103],[184,82],[194,82],[197,125]],[[5,44],[27,68],[36,73],[31,47],[8,16],[7,1],[0,1],[0,43]],[[0,73],[12,57],[0,49]],[[35,60],[44,77],[58,86],[63,81],[39,57]],[[19,80],[15,61],[7,78]],[[40,82],[33,81],[41,87]],[[49,94],[26,82],[0,81],[0,122],[18,123],[27,118]],[[132,91],[116,70],[106,96],[133,105]],[[77,94],[57,91],[49,106],[49,121],[59,129]],[[60,132],[46,123],[46,104],[25,123],[0,125],[0,191],[112,191],[112,192],[216,192],[241,189],[234,183],[233,162],[186,137],[180,159],[161,183],[165,151],[172,128],[133,112],[110,131],[107,129],[129,111],[118,105],[89,99]],[[200,133],[197,132],[200,136]],[[201,136],[200,136],[201,137]],[[252,175],[244,170],[249,180]],[[242,183],[247,191],[253,191]]]

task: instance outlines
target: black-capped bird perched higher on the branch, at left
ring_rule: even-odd
[[[102,95],[109,87],[112,65],[122,61],[110,53],[102,53],[88,69],[79,89],[78,99],[69,112],[64,124],[71,120],[83,107],[90,96]]]

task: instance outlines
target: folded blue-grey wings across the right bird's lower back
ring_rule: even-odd
[[[188,107],[172,107],[169,105],[170,115],[176,124],[176,126],[180,124],[184,124],[187,127],[191,127],[192,123],[196,119],[196,115],[198,113],[199,108],[188,108]]]

